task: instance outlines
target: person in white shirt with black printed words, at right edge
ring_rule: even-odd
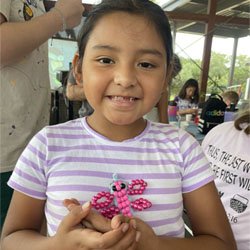
[[[216,174],[238,250],[250,249],[250,108],[205,136],[202,148]]]

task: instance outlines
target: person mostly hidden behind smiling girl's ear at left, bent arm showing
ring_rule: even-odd
[[[70,101],[82,101],[82,106],[78,110],[79,117],[89,116],[94,112],[93,108],[90,106],[88,100],[85,97],[82,86],[79,86],[76,83],[72,69],[70,70],[67,79],[66,97]]]

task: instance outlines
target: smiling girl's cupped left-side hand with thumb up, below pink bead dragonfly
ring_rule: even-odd
[[[91,203],[75,205],[59,225],[53,237],[56,249],[60,250],[134,250],[136,249],[136,231],[128,223],[106,233],[82,228],[80,222],[89,214]]]

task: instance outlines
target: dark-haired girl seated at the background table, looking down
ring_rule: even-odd
[[[174,101],[177,103],[178,115],[197,115],[199,103],[198,82],[192,78],[187,80],[181,88],[178,96],[175,97]]]

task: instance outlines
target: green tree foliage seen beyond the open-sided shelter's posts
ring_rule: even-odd
[[[198,81],[200,79],[201,61],[199,59],[191,60],[180,57],[180,60],[182,63],[182,70],[171,83],[170,99],[178,95],[181,87],[189,78],[194,78]],[[211,53],[207,93],[221,93],[228,87],[230,64],[231,56],[216,52]],[[237,56],[232,85],[242,85],[243,96],[246,89],[247,78],[249,77],[250,57],[247,55]]]

